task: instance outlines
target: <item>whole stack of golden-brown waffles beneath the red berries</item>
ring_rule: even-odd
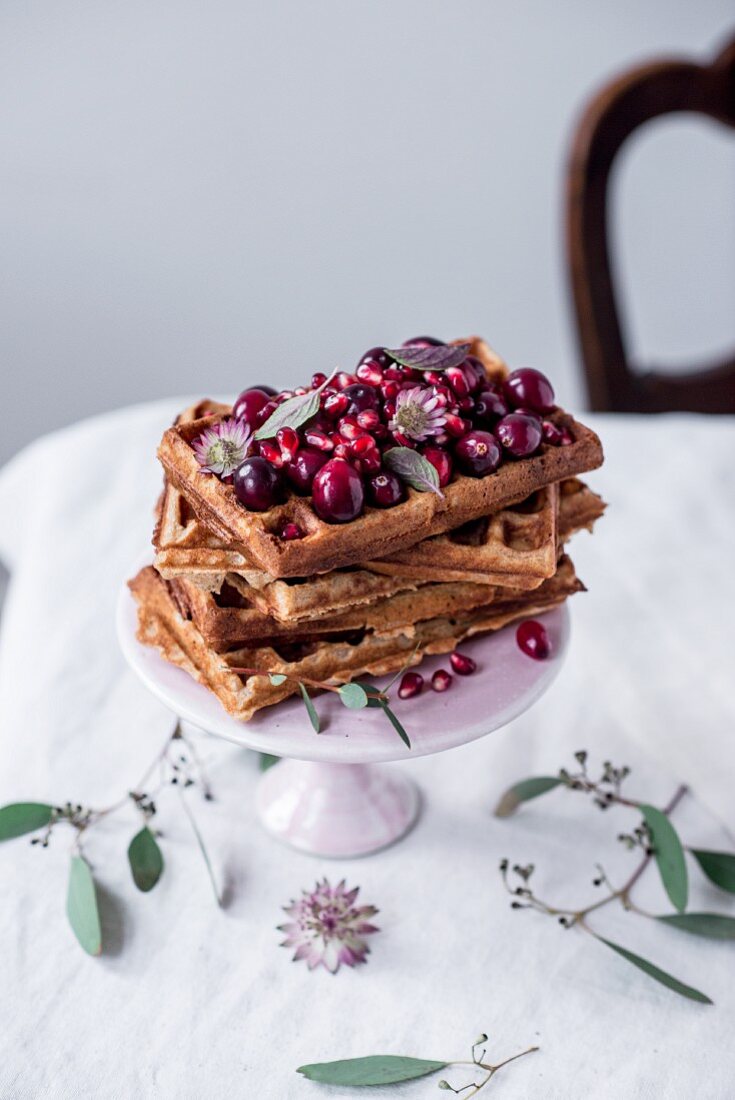
[[[480,341],[473,353],[502,376]],[[568,446],[544,444],[485,477],[457,476],[443,497],[409,488],[403,504],[336,525],[305,496],[250,512],[230,484],[201,472],[191,442],[229,413],[200,402],[164,433],[154,565],[130,587],[140,640],[234,717],[250,719],[299,680],[344,683],[450,652],[583,590],[566,544],[602,515],[575,476],[600,465],[602,450],[568,414],[551,416]],[[304,537],[281,538],[286,522]],[[274,673],[286,679],[273,683]]]

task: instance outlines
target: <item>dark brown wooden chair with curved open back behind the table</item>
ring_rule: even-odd
[[[615,300],[607,239],[611,168],[634,130],[677,111],[735,127],[735,38],[710,65],[662,61],[624,74],[595,96],[577,129],[568,169],[567,258],[593,409],[735,413],[735,358],[687,374],[635,372]]]

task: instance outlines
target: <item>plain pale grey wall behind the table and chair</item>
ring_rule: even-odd
[[[581,404],[562,168],[585,97],[732,0],[3,0],[0,461],[81,416],[483,332]],[[735,342],[735,143],[618,178],[639,354]]]

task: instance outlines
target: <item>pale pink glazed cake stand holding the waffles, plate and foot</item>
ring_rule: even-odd
[[[154,695],[209,734],[283,758],[260,780],[257,810],[265,828],[301,851],[341,858],[365,856],[393,844],[418,816],[416,784],[403,768],[382,768],[382,763],[476,740],[523,714],[544,694],[567,651],[569,613],[562,606],[542,619],[552,646],[548,660],[526,657],[516,645],[515,627],[509,626],[462,645],[462,652],[478,663],[474,675],[457,676],[443,694],[425,688],[416,698],[395,697],[393,708],[410,737],[408,749],[382,711],[348,711],[331,693],[315,698],[320,734],[314,733],[304,704],[296,698],[265,708],[251,722],[238,722],[206,688],[136,640],[135,604],[127,586],[118,602],[123,654]],[[420,671],[428,682],[440,667],[449,668],[447,657],[425,659]]]

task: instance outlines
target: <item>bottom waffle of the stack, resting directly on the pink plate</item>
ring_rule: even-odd
[[[217,653],[200,631],[185,618],[167,583],[152,566],[133,578],[130,588],[139,604],[138,638],[184,669],[212,691],[224,710],[243,722],[298,691],[299,678],[347,683],[362,675],[384,675],[405,664],[417,664],[425,653],[447,653],[465,638],[497,630],[508,623],[537,615],[562,603],[582,585],[573,565],[563,558],[555,576],[533,593],[500,601],[456,617],[419,623],[413,631],[393,636],[359,631],[351,639],[312,639],[296,645],[253,645]],[[253,668],[262,675],[232,670]],[[267,673],[283,673],[283,684],[271,683]]]

